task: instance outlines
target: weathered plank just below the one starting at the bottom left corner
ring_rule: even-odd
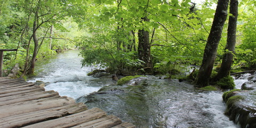
[[[92,108],[81,113],[65,116],[62,118],[52,119],[50,121],[41,122],[33,125],[25,126],[24,128],[48,128],[48,127],[72,127],[85,122],[93,121],[101,117],[105,117],[106,112],[99,108]]]

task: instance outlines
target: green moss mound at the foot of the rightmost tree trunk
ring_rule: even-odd
[[[234,89],[235,83],[234,79],[231,76],[223,77],[216,82],[217,86],[220,86],[221,89]]]

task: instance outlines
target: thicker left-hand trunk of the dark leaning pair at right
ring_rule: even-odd
[[[217,49],[221,38],[222,29],[227,19],[229,0],[219,0],[214,15],[212,28],[204,49],[202,65],[196,77],[196,85],[199,87],[209,85],[209,79],[217,55]]]

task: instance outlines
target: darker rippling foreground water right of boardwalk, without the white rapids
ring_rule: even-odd
[[[135,82],[134,82],[135,81]],[[137,127],[236,127],[223,113],[222,92],[206,92],[177,80],[139,77],[136,85],[105,86],[80,97]]]

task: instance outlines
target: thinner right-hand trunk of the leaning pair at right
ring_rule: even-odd
[[[230,74],[231,65],[233,62],[233,56],[235,54],[236,45],[236,24],[238,17],[238,0],[231,0],[229,6],[229,16],[228,20],[228,38],[225,50],[227,53],[223,55],[220,70],[213,79],[213,81],[219,81],[219,79],[226,77]]]

